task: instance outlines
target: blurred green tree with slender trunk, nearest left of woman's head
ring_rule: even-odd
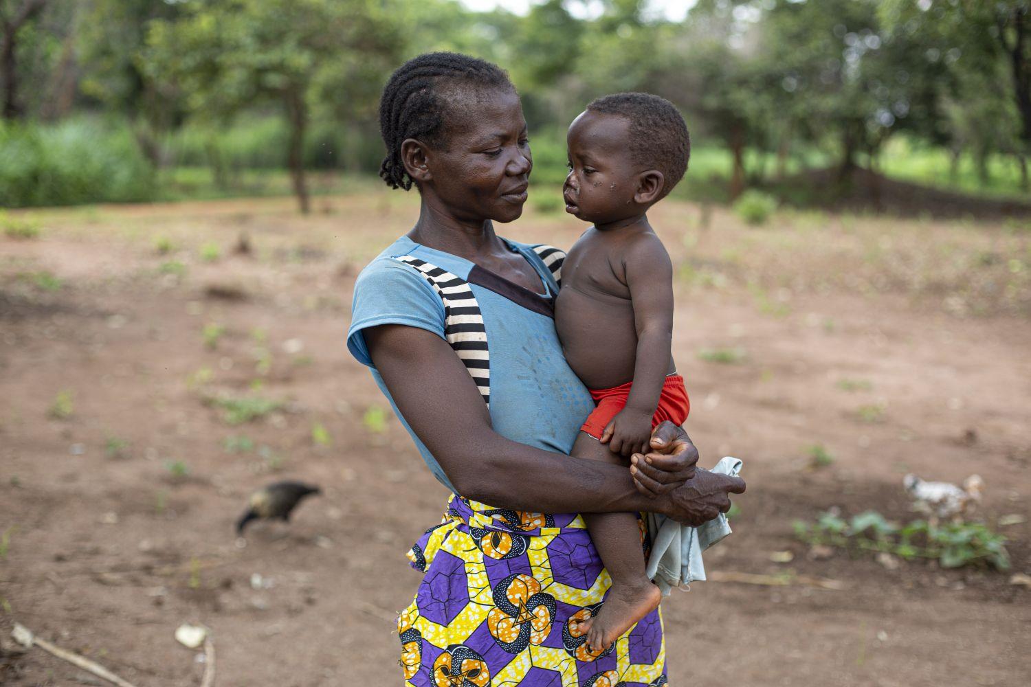
[[[143,64],[174,83],[199,119],[227,124],[263,103],[281,108],[287,165],[307,212],[303,149],[312,107],[321,98],[368,100],[365,64],[397,44],[390,14],[370,0],[211,0],[187,5],[176,21],[153,22]],[[331,83],[339,90],[328,93]]]

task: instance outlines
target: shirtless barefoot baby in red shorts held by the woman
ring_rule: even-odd
[[[598,404],[572,454],[624,461],[647,451],[655,425],[681,424],[690,408],[670,353],[672,265],[645,213],[684,176],[691,141],[671,103],[621,93],[588,105],[566,142],[566,212],[593,227],[562,266],[555,319],[566,359]],[[661,592],[644,573],[636,514],[584,519],[612,579],[601,610],[579,625],[597,655],[655,610]]]

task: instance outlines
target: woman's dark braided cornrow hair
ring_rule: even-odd
[[[441,142],[446,100],[444,88],[507,88],[508,74],[497,65],[457,53],[428,53],[408,60],[395,71],[379,100],[379,133],[387,157],[379,176],[391,188],[411,188],[412,179],[401,161],[401,143],[418,138],[431,145]]]

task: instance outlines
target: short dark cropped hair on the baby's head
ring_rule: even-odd
[[[673,103],[650,93],[614,93],[587,108],[630,121],[630,154],[634,162],[662,172],[665,182],[660,198],[684,178],[691,159],[691,136]]]

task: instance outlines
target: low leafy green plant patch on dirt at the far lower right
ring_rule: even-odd
[[[900,525],[876,511],[866,511],[850,519],[827,511],[816,522],[796,520],[793,526],[795,536],[807,544],[891,553],[906,560],[931,558],[942,568],[1009,569],[1005,535],[992,531],[983,522],[950,522],[938,526],[913,520]]]

